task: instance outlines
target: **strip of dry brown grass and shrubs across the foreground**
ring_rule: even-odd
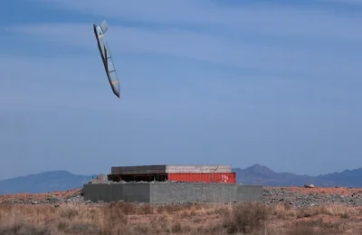
[[[151,205],[0,204],[0,234],[359,234],[361,210],[337,204],[295,209],[289,203]]]

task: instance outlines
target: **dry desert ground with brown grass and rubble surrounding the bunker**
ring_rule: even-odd
[[[81,189],[0,196],[0,234],[362,234],[362,189],[266,187],[263,202],[84,202]]]

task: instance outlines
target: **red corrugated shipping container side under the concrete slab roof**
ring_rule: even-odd
[[[235,173],[173,173],[167,176],[168,181],[236,183]]]

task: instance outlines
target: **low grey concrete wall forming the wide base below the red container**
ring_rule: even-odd
[[[262,185],[235,183],[110,183],[84,184],[91,202],[262,202]]]

